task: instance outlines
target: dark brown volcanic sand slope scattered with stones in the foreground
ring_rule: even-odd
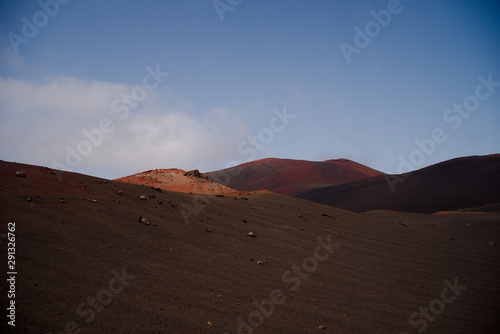
[[[18,272],[15,328],[0,285],[3,333],[238,333],[238,319],[240,333],[500,331],[499,248],[452,229],[266,192],[200,197],[52,173],[0,162],[1,270],[15,221]],[[193,201],[186,223],[179,208]],[[317,240],[328,236],[331,254]]]

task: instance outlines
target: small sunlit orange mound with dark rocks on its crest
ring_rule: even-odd
[[[115,179],[115,181],[140,184],[182,193],[210,195],[238,193],[237,190],[209,180],[208,177],[202,175],[197,169],[189,172],[177,168],[155,169],[121,177]]]

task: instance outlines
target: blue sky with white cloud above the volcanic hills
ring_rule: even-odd
[[[0,159],[118,178],[500,152],[495,0],[0,2]]]

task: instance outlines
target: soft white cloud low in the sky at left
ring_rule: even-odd
[[[45,166],[57,161],[68,170],[103,177],[153,168],[203,169],[234,157],[236,146],[250,133],[246,122],[228,108],[212,108],[197,118],[180,109],[191,103],[178,104],[180,108],[162,105],[162,91],[148,92],[146,100],[120,119],[112,102],[132,88],[70,77],[43,82],[0,77],[1,158]],[[104,118],[111,120],[113,130],[71,166],[66,147],[78,152],[78,145],[87,140],[82,130],[98,128]]]

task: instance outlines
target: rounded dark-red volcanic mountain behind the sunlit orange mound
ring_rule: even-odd
[[[240,191],[269,190],[296,196],[310,189],[382,176],[382,172],[347,159],[322,162],[262,159],[205,173],[211,180]]]

